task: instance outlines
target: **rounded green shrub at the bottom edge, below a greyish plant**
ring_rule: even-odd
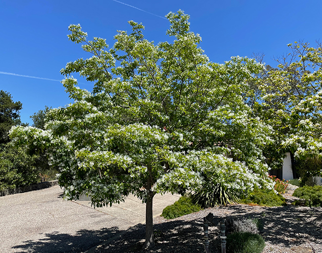
[[[227,235],[227,253],[261,253],[265,241],[259,234],[248,232]]]

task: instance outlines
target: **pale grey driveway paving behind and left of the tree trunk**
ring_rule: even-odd
[[[0,253],[85,252],[145,222],[145,204],[133,196],[94,209],[89,201],[64,201],[61,194],[54,186],[0,197]],[[154,216],[178,199],[156,195]]]

